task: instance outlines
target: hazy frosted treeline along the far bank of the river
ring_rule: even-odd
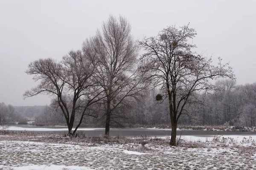
[[[234,80],[225,79],[217,81],[215,86],[216,91],[197,95],[202,103],[186,107],[186,112],[179,120],[181,125],[256,126],[256,83],[236,85]],[[126,118],[120,118],[119,124],[114,126],[170,125],[168,101],[156,101],[155,96],[159,93],[155,89],[145,94],[143,100],[134,100],[134,105],[126,111]],[[34,118],[35,125],[66,123],[61,112],[50,106],[12,106],[1,103],[0,111],[1,115],[5,115],[6,122]],[[99,108],[91,107],[90,112],[101,114]],[[99,118],[85,116],[81,125],[104,126]]]

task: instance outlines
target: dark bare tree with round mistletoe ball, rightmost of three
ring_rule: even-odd
[[[170,26],[160,31],[157,37],[144,38],[140,47],[145,50],[141,57],[141,70],[150,72],[151,79],[163,88],[169,101],[172,124],[170,145],[176,145],[177,122],[182,114],[189,116],[185,106],[199,102],[196,92],[210,90],[214,86],[209,79],[233,77],[228,63],[212,65],[212,58],[203,57],[192,51],[196,46],[189,43],[196,32],[189,25],[180,28]]]

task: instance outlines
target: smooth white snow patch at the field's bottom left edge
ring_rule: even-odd
[[[0,165],[0,170],[3,169]],[[1,169],[2,168],[2,169]],[[3,170],[94,170],[89,167],[65,166],[65,165],[27,165],[20,167],[6,166]]]

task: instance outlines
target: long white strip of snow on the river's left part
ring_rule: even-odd
[[[78,128],[77,130],[102,130],[105,128]],[[66,128],[48,128],[48,127],[35,127],[35,126],[31,126],[31,127],[16,127],[16,126],[9,126],[6,128],[6,130],[20,130],[20,131],[67,131],[67,127]],[[75,128],[73,128],[72,130],[75,130]]]

